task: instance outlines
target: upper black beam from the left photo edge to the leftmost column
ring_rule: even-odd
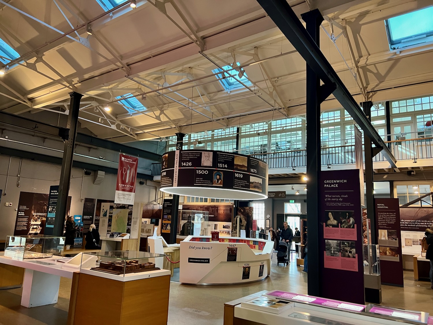
[[[68,134],[68,130],[64,127],[56,127],[54,125],[38,122],[6,112],[0,112],[0,124],[6,124],[20,129],[34,131],[36,133],[60,137],[61,139],[65,139]]]

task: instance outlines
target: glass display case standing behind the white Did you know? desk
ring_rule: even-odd
[[[210,236],[209,212],[179,211],[177,234],[181,236]]]

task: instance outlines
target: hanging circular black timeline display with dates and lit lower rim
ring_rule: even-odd
[[[268,198],[268,165],[260,159],[213,150],[176,150],[162,156],[162,192],[221,198]]]

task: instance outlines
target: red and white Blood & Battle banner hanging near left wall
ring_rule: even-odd
[[[114,203],[134,204],[137,166],[137,157],[120,154]]]

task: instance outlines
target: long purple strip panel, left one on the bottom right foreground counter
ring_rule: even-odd
[[[362,312],[365,305],[353,304],[351,302],[344,302],[333,299],[320,298],[315,296],[301,295],[299,293],[290,293],[285,291],[274,290],[266,293],[264,296],[270,298],[278,298],[282,300],[305,302],[312,305],[331,307],[335,309],[344,309],[351,312]]]

